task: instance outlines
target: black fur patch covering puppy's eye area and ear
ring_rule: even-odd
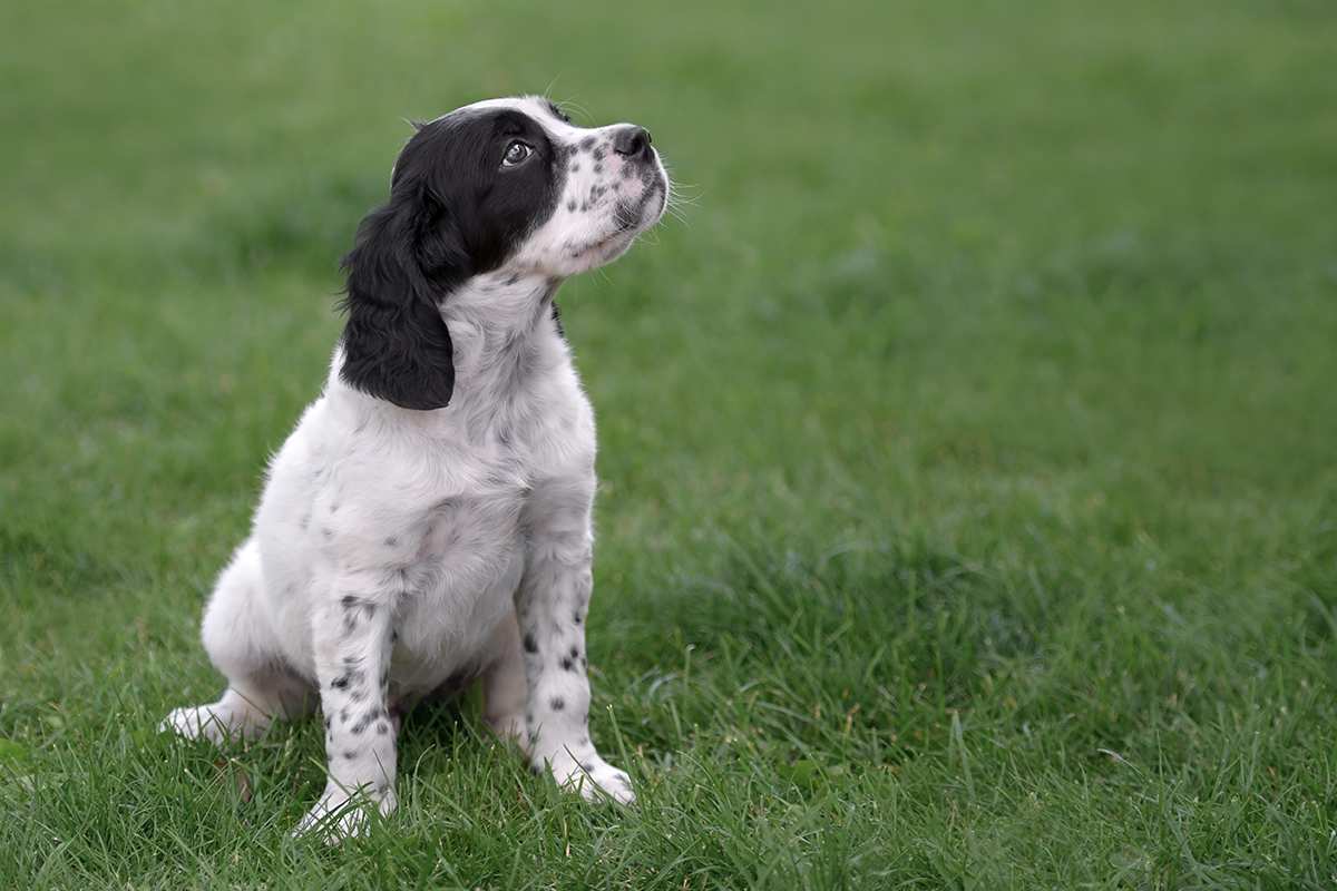
[[[513,140],[533,151],[503,167]],[[344,381],[405,409],[448,405],[455,358],[441,305],[547,220],[564,178],[566,155],[517,110],[461,110],[418,127],[389,200],[366,215],[344,258]]]

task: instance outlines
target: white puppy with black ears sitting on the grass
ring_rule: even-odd
[[[393,811],[400,715],[473,679],[535,769],[632,800],[590,739],[594,413],[554,295],[667,196],[648,132],[575,127],[540,98],[467,106],[400,152],[344,260],[325,391],[205,610],[227,689],[163,721],[225,741],[318,701],[329,779],[297,832]]]

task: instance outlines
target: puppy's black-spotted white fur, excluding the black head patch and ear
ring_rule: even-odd
[[[449,406],[353,389],[334,351],[205,612],[227,689],[163,721],[225,741],[318,705],[328,783],[297,832],[338,839],[365,830],[364,806],[392,812],[400,715],[475,677],[488,725],[536,769],[634,799],[588,732],[595,426],[551,301],[659,219],[667,179],[658,158],[632,168],[611,150],[616,127],[571,126],[536,98],[469,108],[496,107],[541,122],[567,168],[554,212],[441,303]]]

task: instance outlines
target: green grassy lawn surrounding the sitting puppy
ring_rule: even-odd
[[[1330,888],[1337,8],[11,4],[0,887]],[[414,713],[154,728],[405,118],[544,91],[695,203],[562,293],[588,808]]]

